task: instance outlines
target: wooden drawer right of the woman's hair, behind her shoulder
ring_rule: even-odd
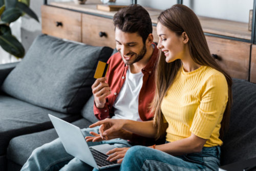
[[[251,44],[241,41],[206,36],[211,54],[218,55],[217,61],[231,77],[249,79]]]

